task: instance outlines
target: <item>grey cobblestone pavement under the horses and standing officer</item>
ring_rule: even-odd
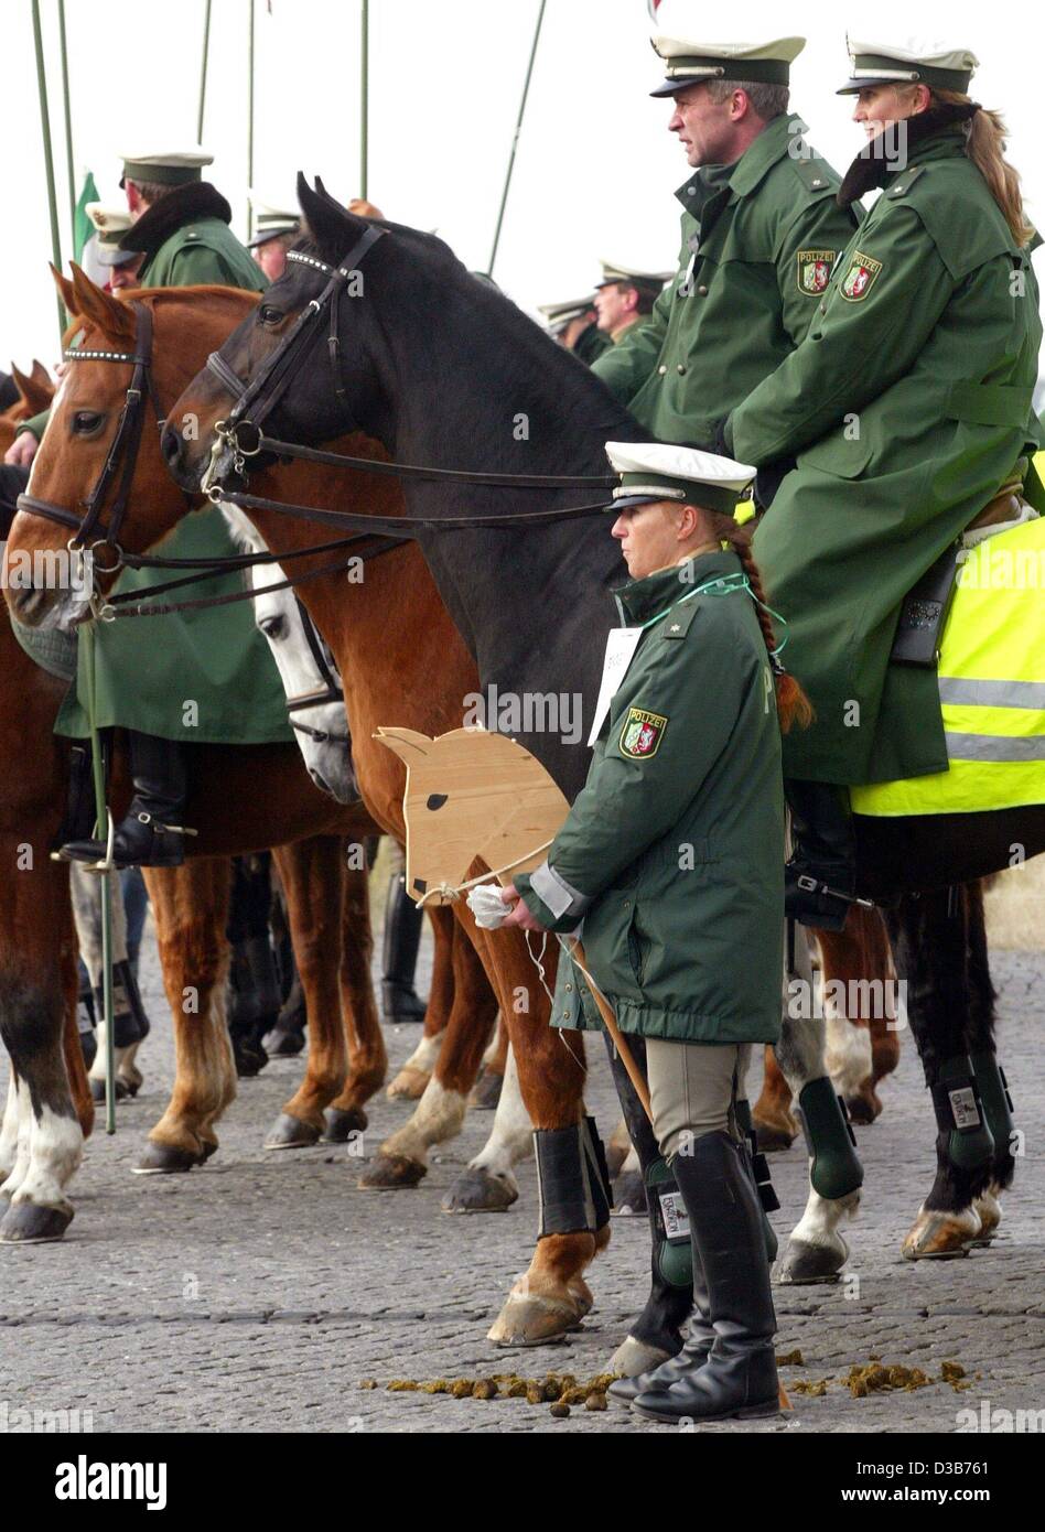
[[[850,1226],[850,1278],[835,1287],[778,1288],[778,1351],[801,1350],[786,1385],[832,1379],[821,1397],[792,1393],[794,1413],[709,1431],[955,1431],[958,1413],[1045,1408],[1045,1175],[1037,1143],[1045,1105],[1045,964],[999,953],[1001,1056],[1028,1132],[1014,1192],[993,1249],[910,1264],[901,1239],[932,1183],[933,1124],[910,1039],[883,1097],[858,1131],[864,1201]],[[146,1086],[121,1105],[115,1138],[98,1134],[75,1180],[75,1221],[61,1244],[0,1247],[0,1408],[89,1411],[95,1431],[619,1431],[647,1425],[611,1406],[575,1408],[388,1393],[394,1377],[526,1376],[607,1363],[645,1296],[645,1219],[616,1218],[608,1252],[588,1273],[596,1307],[568,1342],[500,1351],[484,1336],[535,1230],[533,1166],[504,1215],[446,1216],[440,1198],[481,1147],[492,1117],[470,1114],[437,1149],[417,1190],[362,1192],[343,1147],[265,1152],[262,1138],[291,1094],[300,1060],[274,1060],[221,1124],[221,1151],[201,1170],[130,1174],[172,1079],[170,1031],[155,950],[144,962],[155,1026],[139,1059]],[[389,1030],[391,1063],[417,1028]],[[591,1049],[595,1054],[595,1049]],[[6,1060],[0,1066],[6,1089]],[[752,1095],[755,1091],[752,1091]],[[604,1134],[616,1112],[596,1057],[590,1091]],[[368,1147],[406,1106],[372,1103]],[[774,1157],[783,1236],[806,1195],[804,1155]],[[875,1354],[935,1379],[959,1362],[971,1388],[850,1397],[841,1379]],[[362,1391],[362,1379],[378,1391]],[[982,1402],[987,1402],[984,1406]],[[970,1417],[965,1417],[970,1419]],[[1042,1417],[1045,1420],[1045,1416]]]

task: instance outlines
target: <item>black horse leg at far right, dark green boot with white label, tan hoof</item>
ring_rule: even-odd
[[[902,1242],[909,1261],[968,1253],[976,1198],[990,1186],[994,1141],[979,1111],[970,1054],[968,892],[941,889],[889,913],[907,1017],[936,1115],[936,1177]]]

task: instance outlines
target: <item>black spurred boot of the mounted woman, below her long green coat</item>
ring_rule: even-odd
[[[857,893],[857,853],[844,789],[785,780],[794,850],[785,869],[785,915],[840,931]]]

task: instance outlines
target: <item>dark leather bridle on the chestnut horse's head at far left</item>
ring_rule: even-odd
[[[141,446],[141,432],[146,423],[147,401],[152,403],[156,414],[156,424],[159,430],[162,430],[165,424],[165,417],[159,406],[152,375],[152,309],[147,303],[135,302],[130,303],[130,308],[135,314],[133,351],[92,351],[84,348],[64,352],[66,362],[120,362],[133,369],[124,397],[124,406],[120,412],[116,434],[112,438],[112,444],[106,453],[106,461],[101,466],[101,472],[95,480],[93,489],[83,501],[86,507],[83,516],[78,516],[66,506],[57,506],[51,499],[41,499],[38,495],[18,495],[17,499],[18,510],[32,512],[35,516],[44,516],[48,521],[54,521],[60,527],[70,527],[74,533],[67,544],[70,553],[87,550],[87,541],[93,538],[89,545],[89,552],[93,558],[95,567],[103,573],[112,573],[123,564],[120,530],[123,527],[124,516],[127,515],[127,504],[130,501],[130,484],[138,464],[138,449]],[[101,516],[106,507],[106,496],[109,495],[109,489],[113,481],[116,483],[116,493],[112,506],[109,507],[109,524],[103,525]],[[95,538],[95,533],[101,533],[101,536]],[[100,547],[113,550],[113,564],[98,564],[97,550]]]

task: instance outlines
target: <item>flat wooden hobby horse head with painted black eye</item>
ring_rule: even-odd
[[[415,899],[447,904],[477,859],[506,884],[542,859],[567,801],[515,740],[484,729],[431,738],[397,728],[374,738],[406,766],[406,887]]]

